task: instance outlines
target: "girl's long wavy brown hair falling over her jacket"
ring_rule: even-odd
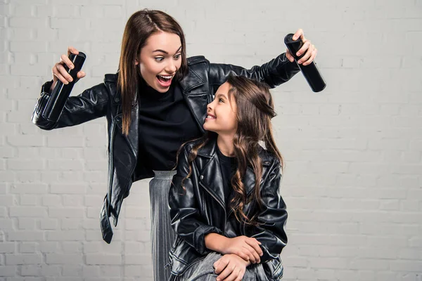
[[[231,208],[239,222],[256,225],[257,214],[250,217],[243,212],[243,207],[252,201],[261,207],[260,180],[262,177],[262,162],[259,157],[260,142],[263,142],[268,152],[279,159],[281,169],[284,162],[279,149],[274,141],[271,118],[276,116],[274,103],[267,84],[240,76],[230,76],[227,82],[230,84],[229,100],[236,103],[236,119],[238,127],[234,136],[234,155],[238,167],[231,178],[231,188],[235,195],[231,200]],[[190,172],[186,178],[191,176],[192,162],[196,158],[198,150],[216,134],[207,132],[203,138],[193,146],[188,156]],[[254,192],[248,197],[243,185],[242,178],[250,167],[255,174]]]

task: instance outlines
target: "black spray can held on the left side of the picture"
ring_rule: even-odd
[[[72,70],[70,70],[67,65],[63,65],[63,67],[65,67],[65,70],[72,76],[72,81],[69,82],[69,84],[63,84],[60,80],[57,81],[56,86],[54,86],[50,98],[47,101],[46,107],[42,112],[42,117],[51,122],[57,122],[58,117],[60,117],[60,114],[65,107],[66,100],[68,100],[70,92],[73,89],[73,85],[75,85],[77,81],[77,72],[82,69],[85,58],[87,58],[87,55],[82,52],[79,52],[77,55],[74,53],[69,55],[69,59],[75,67],[73,67]]]

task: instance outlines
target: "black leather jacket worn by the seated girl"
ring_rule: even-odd
[[[169,193],[170,217],[172,227],[177,233],[177,240],[170,251],[172,275],[182,275],[184,271],[196,262],[204,259],[210,252],[205,247],[204,237],[207,233],[219,233],[229,237],[245,235],[255,237],[263,255],[262,266],[267,276],[258,280],[279,280],[283,275],[280,253],[286,246],[287,237],[284,226],[287,220],[286,204],[279,195],[281,167],[279,159],[260,149],[262,159],[262,178],[260,195],[261,209],[255,202],[245,205],[243,211],[248,216],[257,215],[259,226],[239,223],[231,209],[226,208],[227,198],[224,197],[222,171],[219,157],[216,153],[216,138],[210,139],[203,148],[198,150],[198,156],[192,162],[192,174],[181,181],[189,173],[188,155],[194,143],[188,143],[182,148],[177,164],[177,174],[174,176]],[[247,195],[255,186],[255,174],[248,167],[243,178]],[[231,197],[229,197],[231,200]],[[236,235],[233,236],[233,233]],[[252,265],[253,266],[253,265]]]

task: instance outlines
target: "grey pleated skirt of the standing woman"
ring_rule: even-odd
[[[176,237],[170,226],[169,191],[176,171],[154,171],[149,183],[151,200],[151,246],[153,253],[154,280],[163,281],[170,277],[169,251]]]

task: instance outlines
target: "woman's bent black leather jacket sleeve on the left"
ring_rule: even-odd
[[[109,95],[106,85],[101,83],[91,89],[85,90],[79,96],[70,96],[57,122],[51,122],[45,119],[42,116],[42,112],[51,95],[49,93],[51,83],[53,81],[46,82],[41,87],[41,96],[38,98],[34,112],[32,113],[32,123],[39,126],[39,128],[51,130],[66,126],[75,126],[106,115]]]

